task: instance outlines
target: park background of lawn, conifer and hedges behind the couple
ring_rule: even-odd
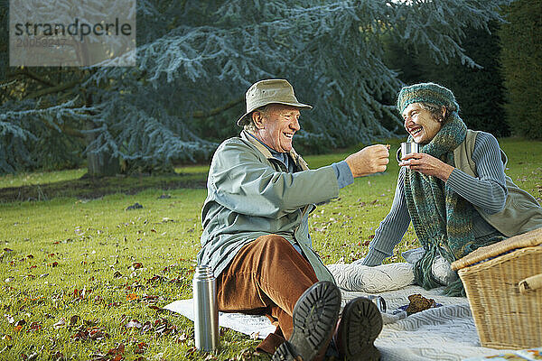
[[[435,81],[542,197],[540,0],[138,1],[137,66],[88,69],[9,67],[7,3],[0,358],[257,357],[257,341],[230,330],[217,353],[199,354],[192,322],[161,307],[192,296],[210,156],[238,134],[258,79],[288,79],[314,106],[294,139],[311,168],[370,143],[393,153],[406,138],[398,89]],[[367,252],[397,170],[390,162],[313,213],[324,263]],[[388,262],[415,245],[409,229]]]

